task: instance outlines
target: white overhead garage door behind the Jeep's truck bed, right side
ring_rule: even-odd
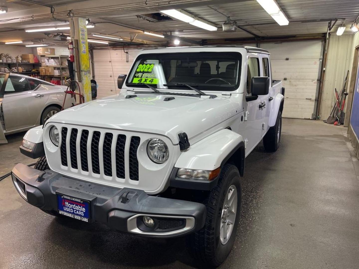
[[[271,53],[274,79],[285,87],[283,117],[312,118],[318,74],[321,66],[322,41],[264,43]]]

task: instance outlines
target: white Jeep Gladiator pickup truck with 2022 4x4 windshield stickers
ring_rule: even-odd
[[[218,266],[232,249],[244,160],[280,143],[284,88],[270,53],[239,46],[145,49],[120,94],[53,115],[29,130],[12,180],[30,204],[116,231],[187,236]]]

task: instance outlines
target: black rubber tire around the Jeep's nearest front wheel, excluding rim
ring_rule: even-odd
[[[220,239],[220,224],[222,222],[222,209],[227,191],[234,185],[237,190],[237,213],[232,233],[227,243],[222,244]],[[226,164],[219,176],[218,184],[214,187],[206,200],[207,216],[205,226],[188,237],[189,247],[201,267],[213,268],[219,266],[232,250],[236,239],[239,217],[241,214],[241,179],[236,166]]]

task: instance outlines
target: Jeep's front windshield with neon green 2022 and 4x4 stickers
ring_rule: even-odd
[[[239,86],[241,54],[237,52],[150,53],[137,57],[126,85],[145,83],[158,89],[233,91]],[[167,85],[167,88],[163,86]],[[138,85],[146,88],[144,85]]]

